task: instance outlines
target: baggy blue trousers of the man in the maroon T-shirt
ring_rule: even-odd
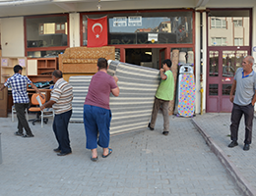
[[[86,129],[88,149],[95,149],[97,145],[102,148],[108,147],[111,117],[110,110],[91,105],[84,105],[84,125]],[[98,140],[97,132],[99,133]]]

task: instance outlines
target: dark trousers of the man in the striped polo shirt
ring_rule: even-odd
[[[71,115],[72,110],[59,115],[55,115],[52,125],[55,137],[59,144],[58,148],[61,150],[62,153],[71,152],[68,132],[68,125]]]

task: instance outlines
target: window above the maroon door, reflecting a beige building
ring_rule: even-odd
[[[208,17],[209,46],[249,46],[249,10],[211,11]]]

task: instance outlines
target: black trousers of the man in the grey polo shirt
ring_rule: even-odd
[[[231,140],[236,141],[238,139],[238,129],[239,123],[244,115],[244,123],[245,123],[245,144],[251,144],[252,139],[252,123],[254,118],[254,106],[249,104],[247,106],[239,106],[233,104],[232,114],[231,114],[231,124],[230,124],[230,131],[231,131]]]

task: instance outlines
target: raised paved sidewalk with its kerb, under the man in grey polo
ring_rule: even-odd
[[[243,118],[238,132],[239,145],[234,148],[227,147],[230,143],[230,116],[230,113],[204,114],[203,116],[197,116],[192,121],[245,195],[256,195],[256,120],[254,119],[253,122],[250,150],[243,151],[245,135]]]

